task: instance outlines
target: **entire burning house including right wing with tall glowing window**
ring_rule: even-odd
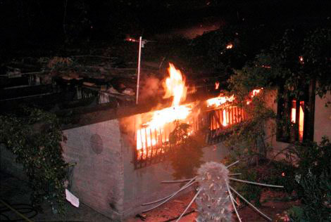
[[[114,220],[120,221],[140,213],[146,209],[143,203],[164,197],[180,187],[160,183],[174,179],[175,169],[168,155],[173,149],[180,148],[172,138],[178,124],[187,124],[185,136],[197,136],[204,141],[203,162],[219,162],[227,152],[220,143],[223,130],[249,119],[242,107],[227,103],[235,100],[233,96],[189,96],[185,76],[180,70],[170,64],[168,72],[169,77],[164,82],[165,95],[158,105],[140,103],[127,106],[132,102],[125,99],[127,95],[94,89],[80,79],[75,81],[82,81],[82,84],[71,87],[67,81],[73,79],[61,79],[65,83],[63,87],[71,87],[75,91],[79,100],[74,103],[85,101],[82,103],[85,107],[70,107],[73,103],[66,103],[61,110],[54,111],[70,113],[72,118],[70,124],[63,126],[63,133],[68,139],[62,144],[65,161],[75,163],[70,191],[81,202]],[[104,84],[102,80],[98,81]],[[216,83],[215,87],[217,89],[219,85]],[[256,96],[260,91],[254,90],[251,96]],[[280,109],[282,106],[275,103],[275,92],[268,95],[268,104],[275,111],[277,107]],[[116,107],[109,105],[114,98],[118,103]],[[299,122],[296,138],[306,137],[311,130],[307,125],[309,120],[303,119],[308,118],[303,104],[321,106],[324,102],[319,98],[315,102],[314,98],[286,103],[287,115],[292,122]],[[91,107],[91,103],[98,104]],[[247,103],[250,101],[247,100]],[[330,108],[328,111],[316,108],[309,113],[315,115],[314,124],[318,124],[313,138],[318,140],[325,132],[330,135],[327,124],[320,120],[330,119]],[[267,136],[271,133],[267,129]],[[275,143],[285,144],[280,141]],[[1,148],[1,168],[18,175],[20,166],[14,164],[13,159]]]

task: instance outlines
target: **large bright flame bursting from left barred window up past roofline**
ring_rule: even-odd
[[[137,130],[137,150],[144,149],[144,153],[146,147],[158,143],[158,138],[161,137],[161,140],[168,141],[167,133],[163,131],[166,130],[169,133],[174,126],[168,125],[175,120],[184,121],[192,112],[192,105],[180,105],[180,102],[185,100],[187,93],[182,73],[180,70],[176,70],[171,63],[168,72],[169,77],[165,79],[165,96],[163,98],[173,97],[173,103],[171,107],[151,112],[150,121],[142,124],[143,128]]]

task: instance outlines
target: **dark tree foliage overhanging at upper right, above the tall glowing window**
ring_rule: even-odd
[[[284,85],[296,98],[304,94],[305,86],[317,81],[316,93],[325,95],[331,89],[331,30],[286,30],[282,39],[256,55],[244,72],[242,84],[266,87]]]

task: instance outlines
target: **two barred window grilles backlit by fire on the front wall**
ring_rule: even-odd
[[[206,144],[220,143],[223,132],[234,124],[246,120],[246,112],[236,106],[219,107],[208,110],[188,120],[189,135],[199,133],[204,136]],[[169,136],[175,129],[174,123],[166,124],[162,129],[142,127],[135,132],[135,168],[162,162],[175,145],[170,145]]]

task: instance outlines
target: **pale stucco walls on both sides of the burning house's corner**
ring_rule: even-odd
[[[120,124],[121,122],[121,124]],[[174,180],[170,162],[135,169],[134,122],[114,119],[98,124],[65,130],[68,141],[63,143],[67,162],[76,162],[73,193],[96,211],[123,220],[142,212],[145,202],[158,200],[174,192],[180,185],[163,184]],[[102,140],[103,149],[100,146]],[[102,150],[100,152],[100,150]],[[204,161],[220,161],[227,152],[221,145],[203,149]]]

